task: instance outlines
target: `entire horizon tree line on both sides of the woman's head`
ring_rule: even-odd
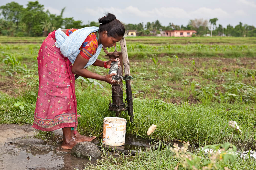
[[[65,8],[60,15],[50,14],[49,10],[44,11],[44,5],[38,1],[29,1],[27,7],[19,5],[17,2],[10,2],[0,6],[0,35],[9,36],[46,36],[49,32],[58,28],[83,28],[89,26],[99,26],[98,22],[88,21],[83,24],[81,20],[74,20],[73,17],[63,18]],[[159,20],[147,22],[146,24],[124,24],[126,30],[136,30],[138,35],[155,35],[164,30],[195,30],[198,36],[209,34],[215,36],[256,36],[256,28],[253,25],[242,24],[233,27],[227,25],[224,28],[221,24],[217,26],[217,18],[209,21],[205,19],[189,20],[187,25],[175,25],[169,23],[167,26],[161,25]]]

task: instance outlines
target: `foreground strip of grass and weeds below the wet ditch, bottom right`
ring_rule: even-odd
[[[107,155],[103,150],[103,159],[98,159],[97,164],[87,163],[85,169],[255,169],[256,164],[254,159],[237,158],[235,161],[232,159],[220,160],[220,156],[230,156],[226,151],[221,154],[205,154],[197,152],[191,154],[192,161],[188,159],[184,161],[181,156],[188,156],[186,153],[178,153],[178,156],[170,149],[170,146],[159,145],[157,148],[150,148],[144,152],[138,152],[135,155],[123,155],[119,157]],[[178,158],[177,158],[178,157]],[[210,159],[211,158],[211,159]],[[218,161],[216,161],[218,160]],[[185,167],[183,167],[185,165]]]

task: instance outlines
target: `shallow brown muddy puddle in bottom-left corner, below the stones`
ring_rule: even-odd
[[[73,169],[84,167],[89,160],[78,159],[70,154],[56,154],[54,151],[18,151],[15,155],[3,154],[0,169]],[[91,161],[91,163],[95,163]]]

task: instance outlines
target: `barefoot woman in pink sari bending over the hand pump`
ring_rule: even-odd
[[[78,142],[96,138],[77,132],[74,74],[116,83],[111,79],[116,73],[101,76],[86,69],[90,65],[110,68],[111,62],[119,61],[111,59],[104,62],[97,59],[102,46],[115,46],[124,35],[123,24],[115,18],[108,13],[99,19],[99,28],[55,30],[49,33],[39,49],[39,90],[33,127],[44,131],[62,128],[63,149],[72,149]]]

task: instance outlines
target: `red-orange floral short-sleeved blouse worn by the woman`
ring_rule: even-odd
[[[69,36],[76,30],[78,29],[76,28],[67,29],[66,35]],[[84,40],[83,44],[79,48],[79,50],[81,50],[79,54],[81,54],[81,56],[89,60],[96,53],[97,48],[98,48],[98,38],[94,34],[94,32],[92,32],[91,34],[88,35],[88,37]]]

